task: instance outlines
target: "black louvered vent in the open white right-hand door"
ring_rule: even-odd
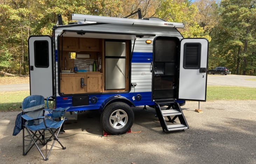
[[[199,69],[201,56],[200,43],[186,43],[184,45],[184,69]]]

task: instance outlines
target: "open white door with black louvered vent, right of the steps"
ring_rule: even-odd
[[[206,101],[208,40],[181,40],[179,99]]]

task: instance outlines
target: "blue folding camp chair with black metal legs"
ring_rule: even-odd
[[[27,155],[35,145],[43,159],[47,161],[55,141],[61,145],[62,149],[66,149],[58,140],[57,136],[65,121],[65,114],[68,108],[69,107],[56,108],[54,110],[44,109],[44,97],[41,95],[30,95],[22,101],[23,156]],[[49,112],[50,117],[44,116],[45,111]],[[24,129],[28,132],[28,136],[25,136]],[[46,133],[47,131],[49,131],[49,133]],[[25,141],[27,140],[27,137],[31,140],[25,150]],[[51,144],[47,156],[44,157],[38,144],[46,145],[51,141],[52,137],[53,143]]]

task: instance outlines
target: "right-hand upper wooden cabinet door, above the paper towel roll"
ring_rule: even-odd
[[[79,38],[79,46],[81,51],[99,51],[99,39]]]

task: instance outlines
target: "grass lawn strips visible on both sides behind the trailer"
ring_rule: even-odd
[[[29,91],[1,92],[0,112],[21,111],[21,102],[28,95]],[[256,100],[256,88],[207,86],[206,100]]]

